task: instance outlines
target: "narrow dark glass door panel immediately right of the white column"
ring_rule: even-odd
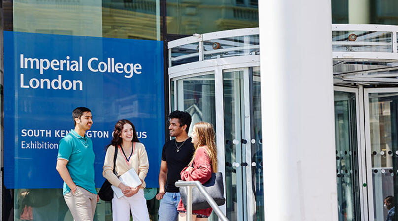
[[[339,221],[360,220],[356,94],[334,92]]]

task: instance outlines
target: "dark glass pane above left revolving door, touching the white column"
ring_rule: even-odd
[[[192,35],[259,26],[258,0],[167,0],[167,33]]]

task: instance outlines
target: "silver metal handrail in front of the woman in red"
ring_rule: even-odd
[[[216,212],[218,218],[222,221],[229,221],[224,213],[221,211],[220,207],[218,207],[217,203],[210,196],[209,193],[203,188],[202,184],[199,181],[177,181],[175,182],[176,187],[187,187],[187,221],[192,221],[192,187],[196,186],[200,193],[204,195],[207,202],[213,208],[214,212]]]

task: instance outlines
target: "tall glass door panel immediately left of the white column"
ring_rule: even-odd
[[[223,73],[227,218],[263,221],[260,69]]]

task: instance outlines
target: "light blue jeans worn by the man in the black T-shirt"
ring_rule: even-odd
[[[176,221],[178,217],[177,207],[180,202],[180,193],[166,192],[160,200],[159,221]]]

